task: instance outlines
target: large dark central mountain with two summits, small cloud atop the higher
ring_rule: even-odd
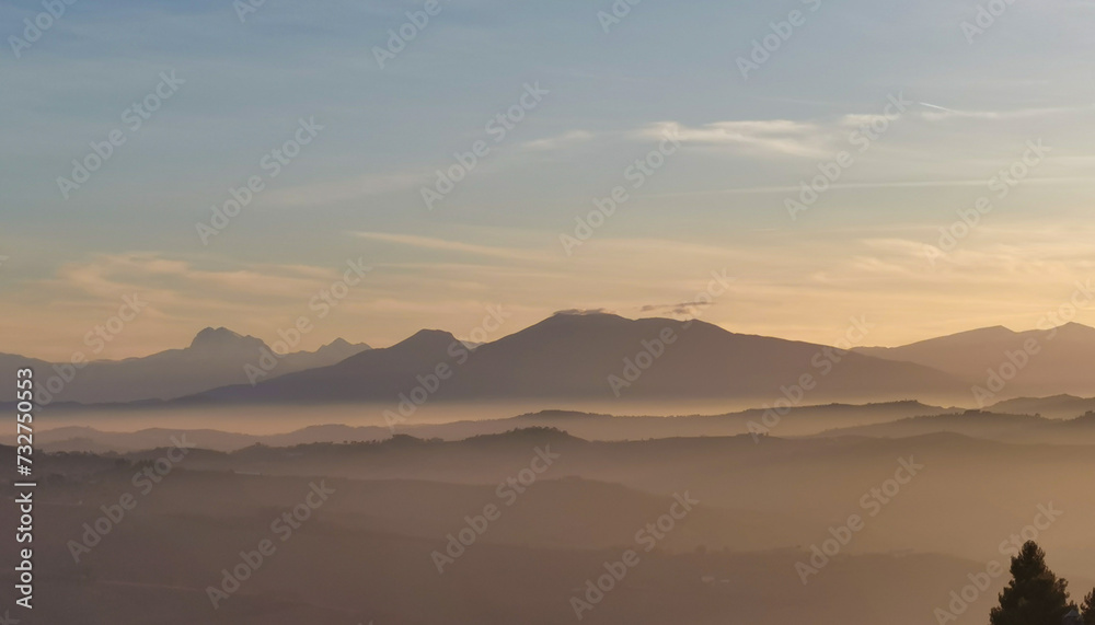
[[[438,374],[440,373],[440,377]],[[797,385],[810,375],[805,392]],[[442,379],[443,378],[443,379]],[[734,334],[703,322],[556,314],[474,351],[422,331],[319,369],[188,401],[387,402],[482,398],[934,398],[968,393],[931,368],[808,343]]]

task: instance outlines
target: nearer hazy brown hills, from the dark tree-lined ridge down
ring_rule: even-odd
[[[169,458],[163,448],[43,454],[50,487],[36,502],[49,513],[36,523],[35,566],[56,571],[42,595],[65,599],[42,603],[44,622],[503,625],[535,610],[535,623],[575,623],[569,598],[631,547],[641,565],[583,622],[925,623],[986,563],[1006,564],[1004,549],[1031,522],[1047,528],[1039,543],[1053,568],[1081,592],[1092,583],[1090,447],[955,435],[591,442],[545,428],[229,454],[189,442],[197,448],[145,493],[135,472]],[[543,474],[499,495],[540,450],[553,458]],[[0,447],[0,461],[13,454]],[[880,490],[901,475],[896,493]],[[316,488],[330,498],[292,533],[272,534],[272,520],[311,506]],[[73,552],[123,495],[139,508]],[[694,507],[656,548],[636,547],[635,532],[670,519],[678,496]],[[500,517],[442,574],[433,553],[486,502]],[[803,583],[798,563],[815,562],[811,545],[853,513],[864,529]],[[263,537],[276,551],[212,607],[208,588]],[[14,549],[0,544],[3,557]],[[1005,582],[990,579],[954,623],[983,623]]]

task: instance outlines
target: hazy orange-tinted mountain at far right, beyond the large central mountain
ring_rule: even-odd
[[[1077,323],[1029,332],[988,327],[903,347],[865,347],[855,351],[931,367],[990,391],[987,386],[990,371],[1002,379],[1013,377],[1005,380],[1006,389],[998,393],[1000,398],[1059,393],[1095,395],[1095,328]]]

